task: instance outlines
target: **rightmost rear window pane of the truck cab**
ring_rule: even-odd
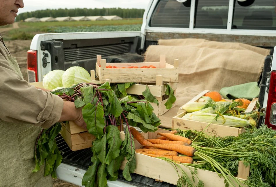
[[[235,0],[233,29],[276,29],[275,0]]]

